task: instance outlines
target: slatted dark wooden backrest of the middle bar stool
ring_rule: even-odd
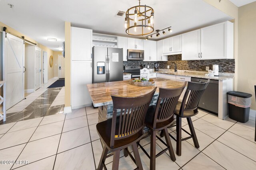
[[[156,110],[153,117],[153,128],[156,123],[170,119],[174,114],[174,109],[178,103],[187,82],[180,88],[159,88],[159,96],[156,102]]]

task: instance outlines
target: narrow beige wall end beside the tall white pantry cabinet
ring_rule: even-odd
[[[65,21],[65,107],[71,106],[71,23]]]

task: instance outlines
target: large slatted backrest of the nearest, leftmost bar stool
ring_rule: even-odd
[[[113,118],[110,147],[115,140],[124,139],[137,133],[143,134],[144,119],[156,88],[150,93],[138,97],[111,96],[113,100]],[[120,115],[118,115],[120,113]]]

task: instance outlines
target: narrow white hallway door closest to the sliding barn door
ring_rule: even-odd
[[[35,90],[41,87],[41,49],[35,49]]]

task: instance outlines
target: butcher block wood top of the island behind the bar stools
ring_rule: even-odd
[[[111,95],[122,97],[141,96],[151,92],[154,87],[162,88],[179,88],[184,82],[176,80],[168,80],[165,78],[152,78],[155,80],[154,86],[139,87],[129,84],[129,80],[118,82],[104,82],[96,84],[87,84],[92,103],[94,107],[113,104]],[[158,94],[159,89],[156,89]]]

